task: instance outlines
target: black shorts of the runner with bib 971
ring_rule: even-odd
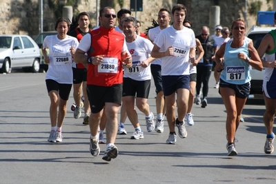
[[[135,81],[124,77],[123,96],[136,96],[143,99],[148,99],[150,94],[150,80]]]

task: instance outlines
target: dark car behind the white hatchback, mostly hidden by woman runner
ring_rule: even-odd
[[[43,44],[43,41],[46,36],[54,35],[54,34],[57,34],[57,32],[56,31],[41,32],[34,39],[34,41],[37,43],[37,45],[39,45],[39,48],[40,48],[40,68],[42,71],[44,70],[45,72],[47,72],[47,70],[48,70],[48,64],[45,63],[45,61],[44,61],[44,57],[43,57],[42,50],[41,50],[41,45]],[[47,50],[47,54],[49,55],[49,50]]]

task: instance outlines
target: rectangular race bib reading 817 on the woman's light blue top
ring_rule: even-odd
[[[226,80],[236,81],[246,79],[244,66],[228,66],[226,69]]]

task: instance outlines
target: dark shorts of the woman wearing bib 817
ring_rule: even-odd
[[[247,99],[250,93],[250,83],[245,84],[233,84],[233,83],[227,83],[226,81],[223,81],[219,79],[219,89],[220,88],[230,88],[235,91],[236,97],[239,99]],[[219,91],[220,94],[220,91]]]

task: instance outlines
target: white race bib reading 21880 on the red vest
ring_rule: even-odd
[[[100,65],[98,65],[99,73],[111,73],[118,72],[118,59],[112,57],[104,57]]]

